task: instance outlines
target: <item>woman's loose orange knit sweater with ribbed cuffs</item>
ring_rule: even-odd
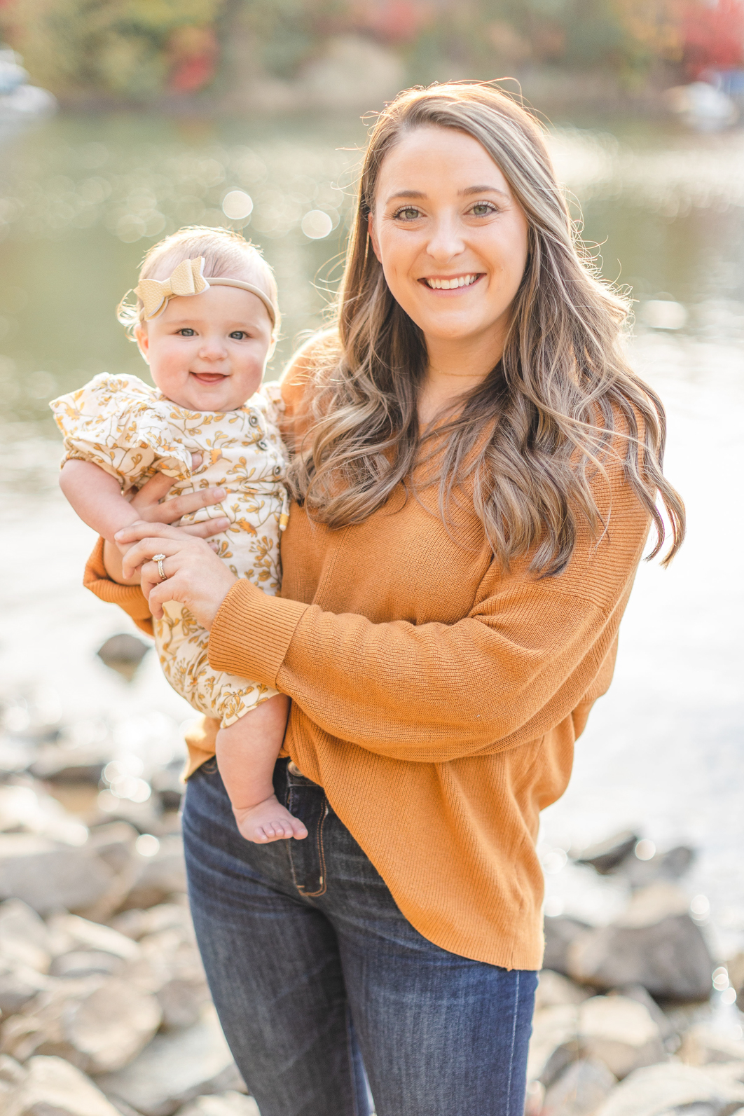
[[[290,421],[302,391],[290,372]],[[290,695],[287,752],[409,922],[508,969],[541,964],[538,817],[566,790],[573,742],[609,686],[648,532],[621,466],[608,473],[609,531],[597,543],[580,527],[566,573],[542,579],[524,562],[503,574],[472,509],[456,512],[453,539],[436,488],[400,490],[341,530],[293,504],[281,596],[239,581],[210,636],[213,667]],[[606,483],[597,499],[607,513]],[[100,546],[86,585],[147,631],[146,600],[107,579]],[[192,771],[215,728],[190,741]]]

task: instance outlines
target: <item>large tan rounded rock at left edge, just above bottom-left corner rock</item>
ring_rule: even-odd
[[[60,981],[2,1024],[2,1050],[20,1061],[58,1055],[85,1072],[108,1072],[132,1061],[161,1018],[156,998],[129,981]]]

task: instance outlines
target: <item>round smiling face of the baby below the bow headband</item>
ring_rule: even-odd
[[[261,385],[272,340],[263,302],[239,287],[172,298],[135,337],[154,383],[189,411],[241,407]]]

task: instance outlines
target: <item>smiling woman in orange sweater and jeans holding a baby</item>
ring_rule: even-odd
[[[364,1069],[378,1116],[521,1116],[539,811],[609,685],[649,521],[661,547],[657,492],[667,561],[684,530],[625,315],[521,107],[403,94],[371,134],[338,326],[283,378],[281,598],[167,525],[122,536],[147,600],[89,567],[139,620],[183,602],[215,668],[292,699],[276,788],[308,839],[240,839],[209,725],[184,810],[200,947],[262,1116],[368,1113]]]

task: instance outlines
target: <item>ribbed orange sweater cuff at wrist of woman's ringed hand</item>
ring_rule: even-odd
[[[210,666],[276,687],[294,628],[307,608],[299,600],[268,597],[241,578],[214,618]]]

